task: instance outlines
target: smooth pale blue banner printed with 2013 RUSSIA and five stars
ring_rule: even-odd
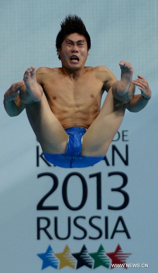
[[[83,169],[51,165],[25,112],[10,118],[1,110],[2,268],[156,268],[157,88],[144,110],[126,111],[104,160]]]

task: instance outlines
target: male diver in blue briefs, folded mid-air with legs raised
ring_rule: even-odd
[[[91,39],[81,18],[61,22],[56,49],[62,67],[31,66],[23,81],[5,92],[9,116],[24,108],[45,158],[59,167],[88,167],[105,157],[125,110],[138,112],[151,98],[146,79],[132,81],[133,67],[121,61],[121,79],[104,66],[85,66]],[[134,95],[134,85],[141,90]],[[107,96],[100,109],[101,97]]]

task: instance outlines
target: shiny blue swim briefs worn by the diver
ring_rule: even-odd
[[[50,163],[63,168],[84,168],[93,166],[103,160],[103,157],[87,157],[81,155],[82,136],[86,129],[81,127],[71,127],[65,129],[69,135],[66,152],[63,154],[44,153],[44,157]]]

